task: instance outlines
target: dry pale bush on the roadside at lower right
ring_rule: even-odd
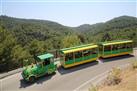
[[[120,78],[121,70],[119,68],[113,68],[107,77],[107,85],[116,85],[121,82]]]

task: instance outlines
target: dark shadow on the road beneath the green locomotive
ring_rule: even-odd
[[[53,73],[51,75],[44,75],[42,77],[39,77],[36,79],[34,83],[26,82],[25,80],[21,79],[20,80],[20,88],[26,88],[29,87],[33,84],[42,84],[43,82],[46,82],[47,80],[51,79],[56,73]]]

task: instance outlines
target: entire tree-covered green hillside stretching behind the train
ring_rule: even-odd
[[[105,23],[67,27],[46,20],[0,16],[0,66],[12,70],[22,66],[23,60],[49,50],[115,39],[133,39],[136,46],[137,18],[121,16]]]

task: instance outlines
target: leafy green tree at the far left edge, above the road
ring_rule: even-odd
[[[17,44],[13,35],[0,28],[0,64],[5,64],[7,70],[9,70],[10,63],[12,63],[11,50]]]

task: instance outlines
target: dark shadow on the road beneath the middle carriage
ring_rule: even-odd
[[[58,72],[63,75],[63,74],[68,74],[68,73],[71,73],[71,72],[75,72],[75,71],[78,71],[78,70],[81,70],[81,69],[84,69],[84,68],[88,68],[90,66],[94,66],[98,64],[97,61],[93,61],[93,62],[89,62],[89,63],[85,63],[85,64],[81,64],[81,65],[77,65],[77,66],[74,66],[74,67],[70,67],[70,68],[63,68],[63,67],[60,67],[58,69]]]

